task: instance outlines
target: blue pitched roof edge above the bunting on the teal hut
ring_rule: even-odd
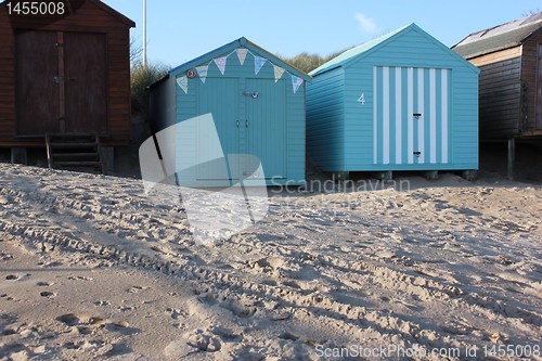
[[[202,65],[202,63],[205,63],[205,62],[208,62],[210,61],[211,59],[214,57],[217,57],[217,56],[220,56],[227,52],[230,52],[230,51],[233,51],[237,48],[246,48],[257,54],[260,54],[262,56],[266,56],[267,59],[269,59],[271,61],[271,63],[273,64],[276,64],[276,65],[280,65],[281,67],[285,68],[286,70],[288,70],[291,74],[294,74],[298,77],[300,77],[301,79],[304,80],[310,80],[312,77],[306,73],[304,73],[302,70],[298,69],[297,67],[284,62],[283,60],[281,60],[280,57],[278,57],[276,55],[273,55],[272,53],[270,53],[269,51],[267,51],[266,49],[263,48],[260,48],[258,47],[257,44],[255,44],[254,42],[247,40],[246,38],[238,38],[236,40],[233,40],[232,42],[229,42],[227,43],[225,46],[222,46],[220,48],[217,48],[215,50],[211,50],[209,51],[208,53],[206,54],[203,54],[194,60],[191,60],[190,62],[186,62],[184,64],[181,64],[175,68],[172,68],[171,70],[169,70],[169,74],[177,74],[177,73],[181,73],[181,72],[186,72],[193,67],[196,67],[198,65]],[[159,81],[159,80],[158,80]]]

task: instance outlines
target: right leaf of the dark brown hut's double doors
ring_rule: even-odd
[[[107,130],[105,35],[64,33],[65,130]]]

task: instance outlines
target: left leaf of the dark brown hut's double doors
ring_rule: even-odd
[[[56,33],[15,35],[18,136],[59,131],[59,50]]]

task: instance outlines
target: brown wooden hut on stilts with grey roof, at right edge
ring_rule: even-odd
[[[480,68],[480,141],[542,139],[542,12],[476,31],[452,49]]]

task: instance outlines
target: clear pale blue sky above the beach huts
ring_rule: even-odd
[[[141,44],[143,1],[104,2],[136,22]],[[326,55],[410,23],[452,46],[535,10],[540,0],[147,0],[147,56],[177,66],[242,36],[284,56]]]

